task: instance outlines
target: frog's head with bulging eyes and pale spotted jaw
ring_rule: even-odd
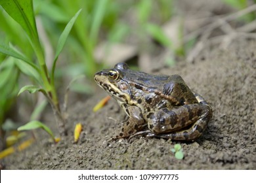
[[[126,63],[117,63],[114,69],[104,69],[95,74],[95,81],[106,92],[121,103],[131,101],[129,82],[125,79],[126,73],[130,72]]]

